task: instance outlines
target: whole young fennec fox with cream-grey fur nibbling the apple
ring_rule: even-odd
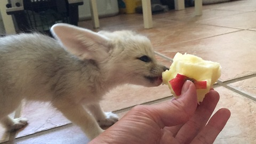
[[[158,86],[167,68],[154,57],[150,41],[131,31],[109,33],[58,23],[54,38],[20,34],[0,38],[0,121],[7,130],[27,119],[11,119],[22,99],[50,101],[89,139],[118,121],[99,101],[121,84]]]

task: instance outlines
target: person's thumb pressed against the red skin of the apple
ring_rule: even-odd
[[[173,126],[186,123],[195,113],[197,107],[196,87],[193,82],[186,81],[182,86],[181,95],[170,101],[151,107],[152,115],[159,126]]]

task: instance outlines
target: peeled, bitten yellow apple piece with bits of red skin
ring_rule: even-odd
[[[169,86],[174,97],[181,94],[183,84],[190,80],[196,86],[197,101],[202,102],[221,75],[221,67],[217,62],[203,60],[195,55],[177,53],[173,58],[170,70],[164,71],[163,84]]]

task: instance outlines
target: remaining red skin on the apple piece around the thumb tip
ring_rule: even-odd
[[[194,78],[189,78],[185,75],[177,74],[175,78],[169,81],[170,85],[172,86],[172,90],[177,96],[181,94],[182,86],[187,80],[193,82],[196,86],[196,89],[207,88],[207,81],[196,81]]]

